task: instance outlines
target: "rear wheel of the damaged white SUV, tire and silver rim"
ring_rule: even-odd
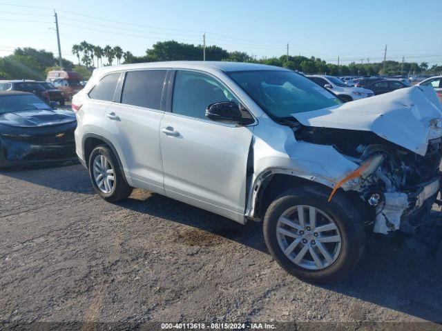
[[[88,170],[95,192],[104,200],[117,202],[131,195],[133,188],[124,179],[117,159],[108,146],[99,145],[93,149],[88,160]],[[99,174],[102,177],[98,177]]]

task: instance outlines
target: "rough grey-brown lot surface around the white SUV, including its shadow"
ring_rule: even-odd
[[[0,174],[0,321],[442,321],[442,254],[372,238],[337,285],[290,277],[260,223],[142,190],[93,194],[81,165]]]

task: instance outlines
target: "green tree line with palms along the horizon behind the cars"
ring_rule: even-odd
[[[77,64],[63,59],[64,68],[72,69],[88,79],[94,68],[120,63],[140,63],[153,61],[200,61],[204,48],[202,45],[178,43],[177,41],[159,41],[146,50],[142,56],[135,56],[119,46],[95,46],[87,41],[75,44],[72,53],[77,57]],[[262,63],[298,70],[306,74],[332,74],[335,76],[365,76],[373,74],[441,74],[442,66],[429,68],[427,62],[349,63],[338,66],[327,63],[318,57],[288,56],[256,59],[247,52],[229,52],[219,46],[206,47],[207,61],[235,61]],[[35,48],[17,48],[13,54],[0,58],[0,79],[36,79],[43,80],[49,70],[57,69],[58,59],[52,52]]]

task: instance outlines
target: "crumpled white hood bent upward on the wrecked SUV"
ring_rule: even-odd
[[[442,107],[431,86],[401,88],[292,116],[304,126],[372,131],[420,155],[425,155],[429,139],[442,136]]]

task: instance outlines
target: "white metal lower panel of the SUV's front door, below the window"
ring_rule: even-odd
[[[165,113],[161,128],[179,134],[160,132],[166,196],[243,223],[254,127]]]

